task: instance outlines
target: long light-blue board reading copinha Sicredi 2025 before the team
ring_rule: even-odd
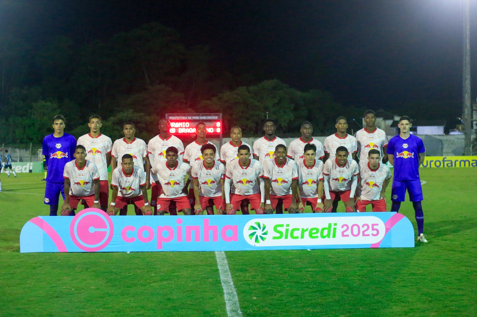
[[[414,228],[395,212],[40,216],[20,234],[20,252],[234,251],[321,248],[413,248]]]

